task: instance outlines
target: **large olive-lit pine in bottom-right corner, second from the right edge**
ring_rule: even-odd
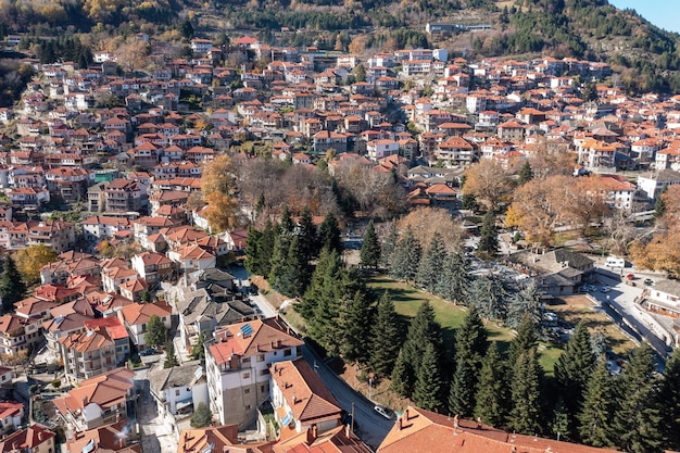
[[[634,453],[660,451],[662,416],[654,352],[647,343],[633,350],[621,375],[614,427],[618,446]]]

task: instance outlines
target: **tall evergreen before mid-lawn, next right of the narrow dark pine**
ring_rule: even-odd
[[[441,357],[443,340],[441,335],[441,326],[435,320],[435,310],[429,302],[425,302],[418,309],[418,313],[411,320],[406,341],[402,347],[404,362],[408,367],[408,382],[406,385],[407,393],[411,394],[415,385],[415,378],[418,375],[420,361],[428,343],[432,343],[435,351]]]

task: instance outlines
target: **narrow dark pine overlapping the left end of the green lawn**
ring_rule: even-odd
[[[378,302],[378,313],[373,327],[370,368],[376,375],[385,377],[392,373],[400,344],[399,317],[392,299],[386,292]]]

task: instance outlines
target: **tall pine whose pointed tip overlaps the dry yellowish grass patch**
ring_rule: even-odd
[[[575,420],[583,401],[583,392],[595,366],[590,334],[582,320],[576,326],[565,352],[555,364],[555,380],[570,420]]]

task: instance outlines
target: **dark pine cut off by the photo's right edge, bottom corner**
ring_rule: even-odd
[[[662,430],[666,448],[680,451],[680,348],[672,351],[666,362],[660,383]]]

